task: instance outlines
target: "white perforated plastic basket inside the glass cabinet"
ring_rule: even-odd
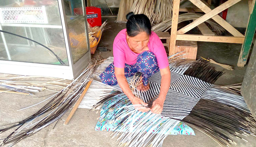
[[[45,7],[0,8],[0,23],[48,23]]]

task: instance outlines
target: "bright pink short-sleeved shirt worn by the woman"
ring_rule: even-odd
[[[151,31],[149,37],[148,49],[155,54],[160,69],[169,66],[164,45],[158,35],[153,31]],[[124,68],[124,63],[129,65],[136,63],[139,54],[134,53],[128,46],[126,41],[126,29],[123,29],[117,34],[113,44],[113,55],[115,67]]]

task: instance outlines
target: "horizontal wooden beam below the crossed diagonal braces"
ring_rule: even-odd
[[[244,41],[244,37],[233,36],[204,36],[204,35],[190,35],[190,34],[177,34],[176,40],[189,40],[189,41],[207,41],[207,42],[226,42],[226,43],[240,43]]]

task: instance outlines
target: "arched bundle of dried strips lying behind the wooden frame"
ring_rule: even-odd
[[[188,20],[194,20],[199,17],[201,17],[203,14],[194,14],[194,13],[186,13],[179,15],[178,23],[188,21]],[[209,23],[209,25],[214,29],[214,31],[217,32],[218,35],[220,35],[222,32],[225,31],[225,29],[220,26],[218,23],[216,23],[214,20],[209,19],[205,22]],[[154,32],[167,32],[172,27],[172,18],[165,20],[159,24],[156,24],[152,27],[152,31]]]

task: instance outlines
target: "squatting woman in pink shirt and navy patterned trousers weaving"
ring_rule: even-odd
[[[167,54],[160,38],[151,31],[151,23],[146,15],[130,12],[126,19],[126,29],[120,31],[114,40],[114,62],[100,75],[101,81],[111,86],[119,84],[133,105],[147,106],[147,103],[133,95],[126,78],[141,72],[142,83],[137,89],[146,91],[149,89],[148,78],[160,70],[162,78],[159,97],[151,108],[139,109],[160,114],[171,80]]]

